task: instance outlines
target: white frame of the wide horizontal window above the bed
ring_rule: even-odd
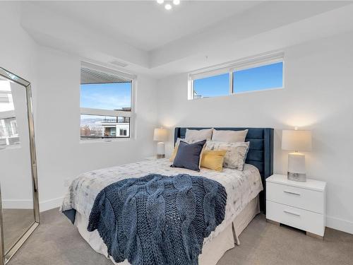
[[[282,87],[280,88],[265,88],[261,90],[244,91],[244,92],[234,92],[233,88],[233,73],[234,71],[241,71],[244,69],[251,69],[258,66],[265,66],[269,64],[275,64],[277,62],[282,62]],[[208,78],[211,76],[218,76],[224,73],[229,74],[229,95],[236,95],[242,93],[256,93],[265,90],[275,90],[285,88],[285,54],[283,52],[275,52],[270,54],[261,54],[256,57],[248,57],[245,59],[231,61],[226,64],[219,64],[207,69],[200,69],[189,73],[188,77],[188,99],[196,100],[194,98],[194,88],[193,82],[201,78]],[[215,98],[215,97],[210,97]],[[203,98],[198,98],[197,100]]]

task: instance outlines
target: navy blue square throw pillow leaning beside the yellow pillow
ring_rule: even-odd
[[[180,141],[177,155],[171,167],[183,167],[188,170],[200,171],[200,155],[206,140],[196,143]]]

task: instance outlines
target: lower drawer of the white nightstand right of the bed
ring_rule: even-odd
[[[266,218],[320,236],[323,236],[325,232],[325,220],[322,214],[277,204],[273,201],[266,201]]]

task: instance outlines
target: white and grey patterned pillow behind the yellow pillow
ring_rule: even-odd
[[[223,167],[243,170],[250,142],[225,143],[207,141],[205,150],[226,150]]]

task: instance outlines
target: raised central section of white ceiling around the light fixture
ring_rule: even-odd
[[[38,1],[38,6],[113,35],[133,47],[150,51],[261,1],[183,1],[171,11],[151,1]]]

